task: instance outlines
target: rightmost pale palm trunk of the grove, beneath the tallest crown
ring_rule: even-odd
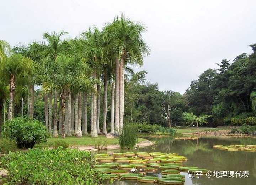
[[[124,120],[124,60],[120,61],[120,83],[119,83],[119,132],[123,132]]]

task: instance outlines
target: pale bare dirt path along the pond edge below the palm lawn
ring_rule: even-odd
[[[140,141],[138,143],[138,145],[136,145],[136,148],[143,148],[143,147],[146,147],[146,146],[151,146],[153,145],[154,143],[152,143],[151,141],[149,140],[146,140],[146,141]],[[98,151],[98,149],[95,149],[94,146],[92,145],[89,145],[89,146],[73,146],[72,148],[75,148],[75,149],[79,149],[79,150],[83,150],[83,151]],[[119,145],[108,145],[107,146],[107,150],[111,150],[111,149],[119,149],[120,146]]]

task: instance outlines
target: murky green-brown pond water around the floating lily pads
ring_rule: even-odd
[[[162,152],[178,153],[188,158],[183,162],[184,166],[196,166],[203,169],[215,171],[248,171],[249,178],[207,178],[206,175],[200,178],[188,178],[188,173],[181,172],[185,175],[185,185],[253,185],[256,184],[256,152],[247,151],[226,151],[213,149],[214,145],[256,145],[256,138],[233,138],[233,137],[214,137],[204,136],[196,140],[177,140],[172,137],[146,138],[155,145],[134,152]],[[108,150],[110,152],[127,152],[127,150]],[[148,176],[161,177],[158,172],[147,174]],[[147,184],[136,181],[116,181],[115,185]]]

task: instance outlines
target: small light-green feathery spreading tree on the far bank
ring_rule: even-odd
[[[207,119],[209,117],[212,117],[211,115],[204,115],[197,117],[193,113],[183,113],[183,119],[188,124],[188,126],[191,126],[193,123],[196,123],[196,127],[198,129],[198,125],[202,125],[203,123],[207,123]]]

